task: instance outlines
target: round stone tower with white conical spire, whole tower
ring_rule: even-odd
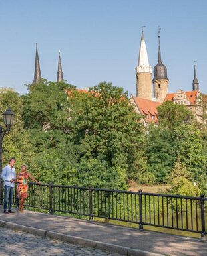
[[[138,66],[136,66],[136,96],[152,100],[152,68],[148,62],[148,53],[144,41],[143,27],[140,42]]]

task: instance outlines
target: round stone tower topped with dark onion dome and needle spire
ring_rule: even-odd
[[[152,80],[154,85],[154,98],[156,101],[162,103],[168,94],[168,76],[167,68],[162,64],[160,52],[160,27],[158,28],[158,64],[154,67],[154,78]]]

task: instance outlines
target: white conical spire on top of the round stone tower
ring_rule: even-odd
[[[148,61],[148,52],[146,49],[146,44],[144,41],[144,33],[143,33],[143,27],[142,27],[142,37],[140,42],[140,52],[139,52],[139,58],[138,58],[138,66],[136,72],[138,73],[151,73],[152,74],[152,68],[149,65]]]

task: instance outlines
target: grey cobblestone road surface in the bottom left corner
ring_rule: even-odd
[[[29,233],[12,231],[10,229],[0,228],[0,255],[43,255],[43,256],[61,256],[61,255],[78,255],[78,256],[119,256],[116,253],[109,253],[99,249],[81,247],[71,243],[48,239],[47,237],[38,237]]]

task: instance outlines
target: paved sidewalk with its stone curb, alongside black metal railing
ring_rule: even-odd
[[[3,214],[1,207],[0,225],[122,255],[207,255],[207,243],[200,239],[31,211]]]

